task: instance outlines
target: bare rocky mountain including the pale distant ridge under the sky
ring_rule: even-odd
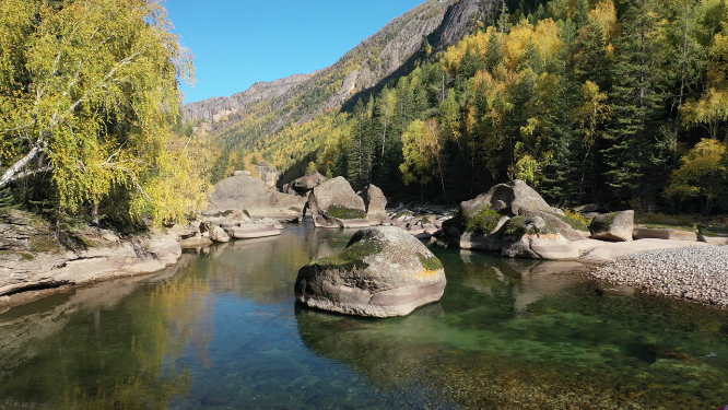
[[[230,152],[246,155],[282,144],[286,127],[312,121],[331,110],[351,110],[359,99],[471,34],[480,21],[493,17],[498,0],[428,0],[389,22],[381,31],[347,52],[333,66],[312,74],[297,74],[257,83],[232,97],[214,97],[184,107],[187,120],[212,122],[211,136],[223,148],[220,166],[230,171]],[[313,139],[313,137],[312,137]],[[291,161],[304,161],[322,141],[307,141]],[[238,156],[242,156],[238,155]]]

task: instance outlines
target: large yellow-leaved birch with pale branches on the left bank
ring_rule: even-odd
[[[171,30],[158,0],[0,0],[0,187],[44,173],[68,213],[111,196],[160,222],[202,207],[191,140],[171,130],[193,80]]]

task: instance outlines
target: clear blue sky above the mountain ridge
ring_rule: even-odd
[[[187,103],[230,96],[256,81],[334,63],[392,19],[424,0],[167,0],[164,5],[196,55]]]

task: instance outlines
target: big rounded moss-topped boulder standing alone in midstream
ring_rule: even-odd
[[[348,315],[406,316],[445,291],[443,263],[398,227],[359,231],[347,248],[301,268],[296,298]]]

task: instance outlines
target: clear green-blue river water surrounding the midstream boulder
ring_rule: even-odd
[[[364,319],[296,305],[354,231],[183,256],[0,314],[0,409],[717,409],[728,313],[582,279],[575,262],[433,247],[439,303]]]

